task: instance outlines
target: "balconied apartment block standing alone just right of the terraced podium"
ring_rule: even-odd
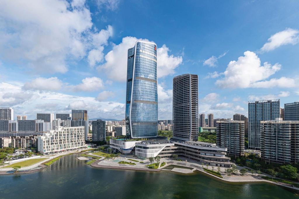
[[[234,156],[244,155],[244,121],[226,120],[216,123],[216,146],[227,148],[227,153]]]

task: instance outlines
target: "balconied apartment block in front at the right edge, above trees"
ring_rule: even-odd
[[[261,121],[261,158],[268,163],[299,163],[299,121]]]

